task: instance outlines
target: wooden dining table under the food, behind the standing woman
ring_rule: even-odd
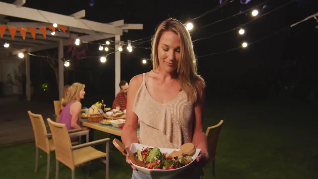
[[[103,125],[103,124],[100,124],[99,122],[89,122],[87,118],[81,118],[81,122],[82,122],[83,126],[85,126],[85,127],[89,127],[92,129],[102,131],[102,132],[107,132],[110,134],[121,136],[122,130],[119,129],[118,127],[113,126],[113,125]],[[139,138],[139,125],[137,128],[137,137]]]

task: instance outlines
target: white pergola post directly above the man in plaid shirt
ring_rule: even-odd
[[[118,51],[119,43],[120,43],[120,35],[115,35],[115,97],[117,93],[119,93],[119,83],[120,83],[120,51]]]

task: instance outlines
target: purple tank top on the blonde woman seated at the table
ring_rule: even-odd
[[[71,129],[74,129],[72,126],[71,126],[71,120],[72,120],[72,114],[70,112],[70,107],[71,105],[74,103],[75,101],[67,104],[62,112],[61,112],[61,115],[59,117],[59,122],[60,124],[65,124],[66,125],[66,128],[67,130],[71,130]],[[80,125],[80,114],[79,114],[79,118],[77,120],[77,124]],[[74,137],[74,138],[71,138],[71,141],[76,141],[78,140],[79,137]]]

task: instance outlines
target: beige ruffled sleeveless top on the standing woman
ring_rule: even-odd
[[[162,148],[180,148],[192,142],[193,103],[186,93],[181,91],[173,101],[161,104],[150,96],[145,74],[142,76],[133,106],[140,121],[139,142]]]

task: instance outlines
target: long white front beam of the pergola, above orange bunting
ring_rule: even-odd
[[[75,19],[71,16],[56,14],[48,11],[41,11],[28,7],[17,8],[14,4],[8,4],[4,2],[0,2],[0,14],[39,22],[46,22],[52,24],[56,23],[60,25],[76,27],[86,30],[95,30],[98,32],[122,35],[122,29],[114,27],[112,25],[84,19]]]

